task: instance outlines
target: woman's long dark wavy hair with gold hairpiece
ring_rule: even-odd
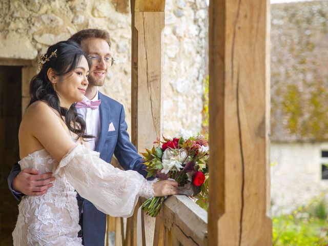
[[[52,68],[58,76],[69,74],[78,66],[83,56],[87,58],[90,68],[91,61],[89,57],[77,43],[61,41],[50,46],[47,53],[40,59],[40,65],[42,66],[40,72],[31,80],[31,100],[28,105],[30,106],[37,100],[45,101],[49,107],[56,110],[62,116],[62,119],[63,117],[65,118],[65,124],[68,129],[77,134],[76,140],[80,137],[92,138],[93,136],[86,134],[86,122],[77,114],[73,105],[69,109],[60,107],[59,98],[48,78],[47,72],[49,68]]]

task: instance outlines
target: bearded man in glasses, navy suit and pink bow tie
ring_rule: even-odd
[[[69,40],[78,43],[92,60],[85,98],[75,106],[86,120],[88,134],[96,136],[94,140],[89,141],[90,149],[99,152],[100,158],[107,162],[110,162],[115,154],[125,170],[135,170],[146,176],[142,158],[129,139],[123,106],[98,91],[98,87],[105,83],[109,68],[114,64],[109,33],[105,30],[86,29],[75,33]],[[8,185],[17,200],[24,194],[43,195],[52,186],[51,181],[54,178],[51,175],[38,174],[35,169],[21,171],[16,163],[8,177]],[[90,201],[79,195],[77,201],[82,229],[79,236],[83,237],[84,245],[103,246],[106,214],[98,211]]]

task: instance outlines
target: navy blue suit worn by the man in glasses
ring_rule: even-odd
[[[100,158],[110,162],[113,154],[125,170],[135,170],[146,177],[145,165],[132,145],[127,132],[124,107],[116,100],[99,92],[101,104],[100,111],[100,134],[96,142],[95,151],[100,153]],[[109,124],[113,122],[115,131],[108,131]],[[8,177],[9,189],[17,200],[22,195],[16,194],[11,183],[20,172],[20,166],[16,163]],[[103,246],[105,242],[106,214],[98,211],[94,205],[77,195],[79,212],[83,208],[83,238],[86,246]]]

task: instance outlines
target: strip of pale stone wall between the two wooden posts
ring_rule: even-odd
[[[203,79],[207,76],[208,9],[206,1],[167,1],[164,30],[163,128],[200,132]]]

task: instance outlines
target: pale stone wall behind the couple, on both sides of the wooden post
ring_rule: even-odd
[[[206,76],[208,6],[202,0],[166,1],[163,33],[163,133],[201,128],[202,80]],[[35,60],[51,44],[85,28],[112,36],[115,65],[100,89],[120,101],[131,126],[131,13],[123,0],[3,0],[0,58]],[[26,92],[23,92],[26,94]]]

